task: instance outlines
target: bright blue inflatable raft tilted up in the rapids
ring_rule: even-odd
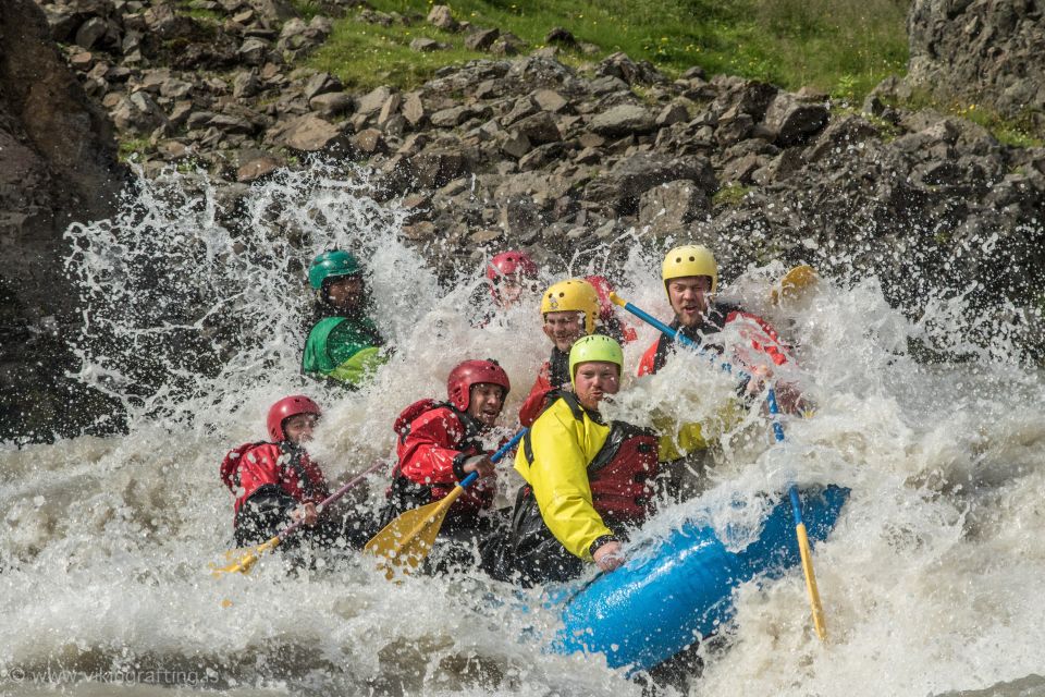
[[[810,545],[826,539],[849,489],[800,494]],[[778,577],[800,563],[787,497],[758,539],[729,551],[710,526],[687,523],[655,549],[602,574],[566,601],[555,650],[605,653],[611,668],[648,670],[708,636],[733,614],[733,590],[758,575]]]

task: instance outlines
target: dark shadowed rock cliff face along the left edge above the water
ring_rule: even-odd
[[[62,233],[112,215],[123,182],[108,119],[50,40],[32,0],[0,2],[0,439],[84,426],[96,400],[63,374],[77,321]],[[99,405],[95,406],[95,409]]]

